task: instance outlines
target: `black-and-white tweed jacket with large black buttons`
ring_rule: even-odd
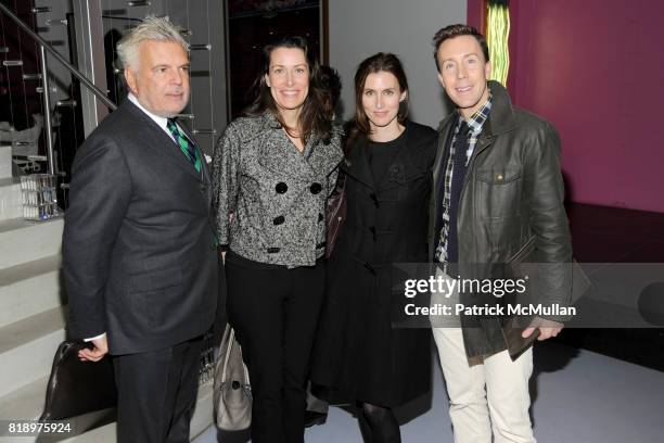
[[[312,266],[324,254],[341,129],[299,152],[271,112],[231,122],[213,155],[218,241],[260,263]]]

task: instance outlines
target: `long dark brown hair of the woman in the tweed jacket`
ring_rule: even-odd
[[[270,88],[265,80],[265,76],[270,69],[270,55],[277,48],[301,49],[305,54],[309,67],[309,92],[305,98],[297,123],[303,142],[306,142],[311,135],[316,135],[325,143],[329,143],[332,136],[332,123],[329,115],[325,113],[325,110],[329,107],[329,105],[325,105],[327,92],[320,86],[320,68],[318,61],[314,58],[311,51],[309,51],[307,40],[303,37],[281,37],[263,47],[263,67],[251,89],[253,100],[252,103],[243,110],[242,114],[255,117],[263,114],[265,111],[270,111],[277,117],[281,126],[289,130],[270,93]]]

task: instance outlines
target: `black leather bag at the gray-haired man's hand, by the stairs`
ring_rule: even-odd
[[[64,420],[117,405],[111,358],[81,362],[78,351],[86,346],[87,343],[71,341],[58,346],[39,420]]]

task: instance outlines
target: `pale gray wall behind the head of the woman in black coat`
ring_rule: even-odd
[[[355,109],[355,69],[376,52],[404,63],[410,117],[433,126],[449,112],[436,78],[431,39],[439,28],[465,23],[465,0],[329,0],[330,65],[342,77],[344,118]]]

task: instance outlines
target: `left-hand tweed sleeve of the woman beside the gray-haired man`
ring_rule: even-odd
[[[217,239],[221,245],[230,242],[230,217],[238,204],[240,139],[232,123],[221,135],[213,153],[214,210]]]

